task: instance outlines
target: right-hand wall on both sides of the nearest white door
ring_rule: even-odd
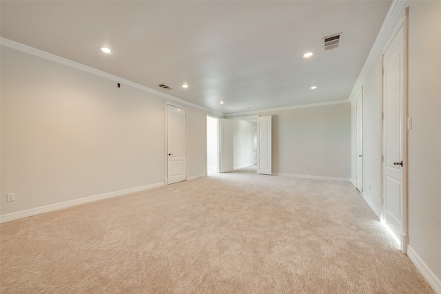
[[[396,1],[394,4],[397,4]],[[393,7],[394,4],[391,6]],[[409,6],[409,248],[411,260],[431,286],[441,293],[441,1],[407,1],[400,8],[397,23]],[[389,24],[390,25],[390,24]],[[393,25],[391,25],[393,27]],[[382,40],[391,39],[389,35]],[[380,40],[380,39],[379,39]],[[387,46],[384,41],[382,48]],[[374,50],[375,48],[373,48]],[[369,70],[362,72],[358,89],[364,90],[363,196],[373,211],[381,200],[381,52]],[[352,120],[355,127],[355,120]],[[356,137],[353,133],[352,144]],[[356,157],[352,156],[352,162]],[[371,189],[369,189],[371,185]]]

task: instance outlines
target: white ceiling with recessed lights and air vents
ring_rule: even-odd
[[[0,5],[6,39],[231,114],[349,98],[391,1]],[[340,48],[323,50],[322,37],[340,32]]]

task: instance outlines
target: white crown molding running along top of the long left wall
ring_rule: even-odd
[[[19,50],[21,52],[25,52],[25,53],[28,53],[28,54],[40,57],[42,59],[47,59],[49,61],[53,61],[53,62],[62,64],[62,65],[73,67],[76,70],[81,70],[83,72],[88,72],[90,74],[95,74],[96,76],[101,76],[103,78],[110,79],[111,81],[116,81],[118,83],[122,83],[124,85],[128,85],[130,87],[134,87],[136,89],[139,89],[139,90],[142,90],[142,91],[145,91],[145,92],[149,92],[149,93],[155,94],[157,96],[161,96],[162,98],[165,98],[165,99],[167,99],[169,101],[174,101],[174,102],[181,103],[181,104],[184,104],[184,105],[187,105],[187,106],[191,106],[191,107],[195,107],[195,108],[198,108],[198,109],[202,109],[205,112],[208,112],[210,114],[216,114],[218,116],[222,116],[223,115],[222,112],[216,112],[213,109],[208,109],[206,107],[202,107],[201,105],[197,105],[197,104],[185,101],[185,100],[183,100],[181,98],[177,98],[177,97],[172,96],[170,94],[165,94],[165,93],[160,92],[158,90],[154,90],[154,89],[152,89],[150,87],[146,87],[145,85],[141,85],[139,83],[134,83],[132,81],[126,80],[125,78],[120,78],[119,76],[114,76],[113,74],[109,74],[109,73],[103,72],[101,70],[96,70],[96,68],[89,67],[87,65],[83,65],[83,64],[77,63],[75,61],[71,61],[70,59],[65,59],[65,58],[63,58],[61,56],[57,56],[55,54],[52,54],[52,53],[49,53],[49,52],[45,52],[45,51],[39,50],[37,48],[33,48],[33,47],[28,46],[28,45],[24,45],[22,43],[18,43],[16,41],[12,41],[10,39],[6,39],[6,38],[3,38],[3,37],[0,37],[0,45],[9,47],[9,48],[12,48],[12,49],[15,49],[15,50]]]

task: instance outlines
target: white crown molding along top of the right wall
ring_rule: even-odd
[[[389,41],[391,38],[391,33],[393,33],[393,31],[396,29],[397,19],[399,17],[402,17],[403,15],[403,8],[405,3],[406,3],[405,0],[392,1],[391,7],[389,8],[386,17],[384,18],[380,31],[378,32],[378,35],[375,41],[373,42],[371,51],[367,56],[365,65],[363,65],[362,70],[358,75],[357,81],[353,85],[351,95],[349,96],[350,101],[353,101],[353,99],[356,97],[356,94],[358,93],[358,87],[360,87],[360,83],[362,79],[365,78],[365,75],[371,69],[373,62],[376,60],[376,58],[379,55],[380,56],[382,55],[382,50],[384,48],[384,45],[387,45],[387,41]]]

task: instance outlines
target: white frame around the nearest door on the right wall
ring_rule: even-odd
[[[408,165],[408,134],[409,129],[407,127],[407,118],[409,116],[408,111],[408,48],[409,48],[409,7],[407,7],[404,11],[404,15],[402,19],[396,24],[396,28],[391,30],[389,41],[386,43],[382,50],[382,68],[384,64],[383,56],[384,52],[386,52],[389,45],[391,45],[393,39],[395,38],[397,32],[403,26],[403,107],[402,107],[402,129],[401,129],[401,144],[402,144],[402,232],[401,232],[401,240],[400,247],[401,251],[404,254],[407,254],[407,246],[409,245],[409,193],[408,193],[408,177],[409,177],[409,165]],[[381,78],[381,114],[382,118],[384,117],[384,70],[382,70],[382,78]],[[384,221],[384,120],[381,120],[381,208],[380,208],[380,220]]]

